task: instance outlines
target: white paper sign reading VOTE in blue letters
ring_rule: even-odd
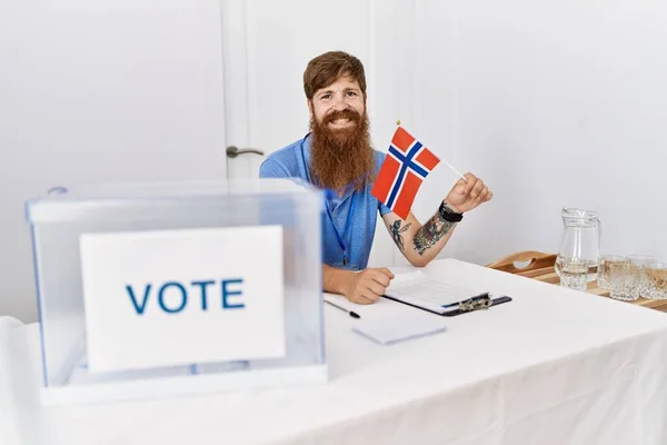
[[[84,234],[80,248],[90,372],[285,356],[282,227]]]

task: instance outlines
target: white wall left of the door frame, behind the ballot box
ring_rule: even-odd
[[[225,176],[219,22],[218,0],[0,1],[0,315],[37,318],[26,199]]]

